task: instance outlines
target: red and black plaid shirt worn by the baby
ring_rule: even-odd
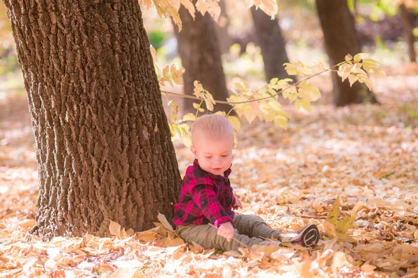
[[[176,225],[189,224],[233,224],[232,206],[235,203],[231,182],[228,179],[231,168],[224,177],[202,170],[197,159],[187,167],[182,182],[178,203],[174,205],[173,222]]]

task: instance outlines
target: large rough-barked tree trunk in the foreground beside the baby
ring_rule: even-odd
[[[157,211],[180,173],[138,1],[6,0],[36,138],[33,233],[109,236]]]

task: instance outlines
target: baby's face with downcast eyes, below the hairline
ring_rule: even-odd
[[[200,136],[190,150],[203,170],[223,175],[231,167],[233,145],[233,138],[229,136],[219,139]]]

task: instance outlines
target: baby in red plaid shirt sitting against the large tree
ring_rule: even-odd
[[[233,208],[242,208],[242,204],[233,195],[228,178],[233,134],[231,122],[222,115],[204,115],[192,124],[190,149],[195,159],[187,167],[178,203],[174,205],[173,222],[180,237],[188,243],[224,251],[238,251],[238,247],[252,245],[281,245],[280,240],[285,237],[293,244],[316,245],[319,232],[314,224],[292,234],[282,234],[268,227],[261,218],[235,215]]]

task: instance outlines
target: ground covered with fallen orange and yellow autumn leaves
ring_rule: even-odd
[[[113,227],[112,238],[29,237],[38,196],[31,121],[25,95],[0,92],[0,277],[418,277],[418,72],[386,71],[373,79],[380,106],[322,101],[309,114],[286,106],[288,130],[242,127],[231,174],[244,204],[237,213],[283,231],[315,223],[325,232],[337,196],[340,219],[360,208],[351,240],[324,236],[313,249],[264,250],[269,256],[185,245],[162,226],[129,236]],[[175,145],[184,173],[192,155]]]

